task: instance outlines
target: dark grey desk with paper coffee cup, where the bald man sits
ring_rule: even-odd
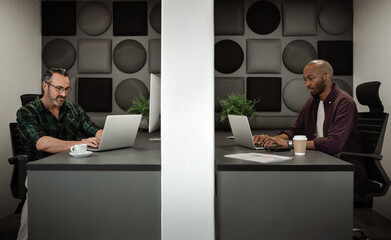
[[[353,165],[318,151],[269,164],[224,158],[252,151],[225,136],[216,134],[218,239],[352,238]]]

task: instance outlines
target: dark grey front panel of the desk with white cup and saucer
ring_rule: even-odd
[[[30,171],[29,239],[160,239],[160,171]]]

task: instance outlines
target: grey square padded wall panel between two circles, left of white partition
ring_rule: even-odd
[[[79,73],[111,73],[111,40],[81,39],[77,48]]]

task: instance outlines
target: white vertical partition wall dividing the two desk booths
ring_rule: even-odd
[[[162,239],[214,239],[213,0],[162,1]]]

